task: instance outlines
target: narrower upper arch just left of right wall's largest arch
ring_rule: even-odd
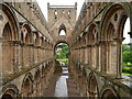
[[[88,28],[88,63],[94,67],[98,67],[99,53],[99,26],[96,22],[92,22]]]

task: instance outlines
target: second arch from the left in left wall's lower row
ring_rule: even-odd
[[[22,97],[31,97],[33,94],[33,76],[26,74],[22,82]]]

